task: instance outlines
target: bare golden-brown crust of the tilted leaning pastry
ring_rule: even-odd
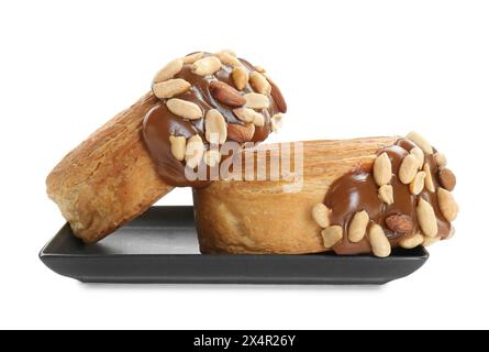
[[[157,99],[146,94],[66,155],[47,177],[47,194],[85,242],[137,217],[174,187],[165,184],[141,135]]]

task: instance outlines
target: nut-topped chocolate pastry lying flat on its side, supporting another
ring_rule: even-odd
[[[284,146],[244,151],[238,175],[193,190],[202,253],[385,257],[453,234],[456,178],[420,134]],[[274,153],[286,167],[256,180]]]

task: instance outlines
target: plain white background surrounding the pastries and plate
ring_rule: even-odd
[[[489,328],[485,1],[2,1],[0,328]],[[234,48],[289,103],[273,141],[420,131],[458,177],[456,237],[384,287],[112,286],[37,258],[51,168],[166,62]],[[190,204],[189,189],[165,205]]]

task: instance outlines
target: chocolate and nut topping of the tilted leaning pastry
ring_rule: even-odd
[[[162,102],[146,114],[143,135],[167,184],[203,187],[209,170],[204,179],[190,179],[186,167],[218,167],[219,145],[225,141],[267,139],[287,106],[259,70],[221,52],[190,54],[158,73],[153,91]]]

